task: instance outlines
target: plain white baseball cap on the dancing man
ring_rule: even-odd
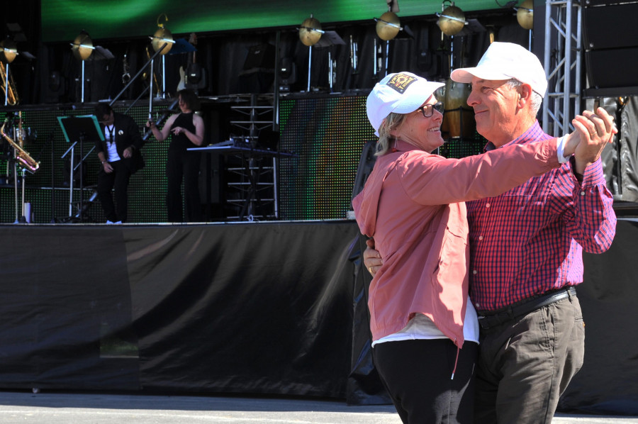
[[[449,77],[464,83],[472,82],[472,77],[515,78],[523,84],[530,84],[541,97],[547,91],[547,77],[538,57],[515,43],[491,43],[476,67],[454,69]]]

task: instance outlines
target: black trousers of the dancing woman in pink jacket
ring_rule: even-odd
[[[374,365],[403,423],[473,422],[478,345],[464,342],[458,353],[457,362],[457,347],[449,339],[374,346]]]

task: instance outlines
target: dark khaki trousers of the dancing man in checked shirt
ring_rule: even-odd
[[[559,397],[583,365],[578,298],[481,328],[479,340],[474,423],[551,423]]]

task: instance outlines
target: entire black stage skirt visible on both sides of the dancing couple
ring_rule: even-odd
[[[0,388],[388,403],[350,221],[0,226]],[[586,359],[559,410],[638,413],[638,222],[578,288]]]

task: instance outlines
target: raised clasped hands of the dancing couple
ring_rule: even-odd
[[[614,117],[603,108],[598,108],[595,113],[583,111],[571,122],[580,135],[580,143],[574,151],[576,167],[573,171],[584,174],[586,167],[598,160],[605,146],[613,143],[618,130],[614,125]]]

